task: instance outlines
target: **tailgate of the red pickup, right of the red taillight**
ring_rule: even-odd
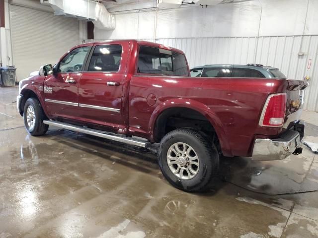
[[[304,104],[304,89],[308,86],[307,82],[301,80],[288,79],[287,81],[286,119],[283,125],[286,129],[292,127],[301,118]]]

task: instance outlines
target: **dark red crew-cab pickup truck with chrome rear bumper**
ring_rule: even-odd
[[[220,155],[279,160],[302,152],[307,84],[285,78],[190,77],[184,53],[137,41],[86,43],[19,83],[27,131],[49,125],[135,146],[160,143],[164,177],[203,190]]]

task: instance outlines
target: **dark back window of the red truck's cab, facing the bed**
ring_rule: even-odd
[[[188,76],[184,55],[155,47],[140,46],[138,72]]]

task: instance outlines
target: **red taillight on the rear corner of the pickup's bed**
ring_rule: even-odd
[[[286,93],[269,95],[259,119],[260,126],[282,126],[286,112]]]

